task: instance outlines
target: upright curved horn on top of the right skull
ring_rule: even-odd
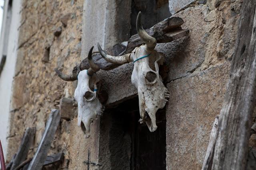
[[[142,41],[144,41],[144,43],[146,44],[147,50],[148,51],[154,50],[154,48],[156,47],[156,39],[148,35],[148,33],[146,33],[146,31],[143,29],[141,24],[141,12],[139,12],[137,16],[136,29],[137,29],[138,35],[140,36]]]

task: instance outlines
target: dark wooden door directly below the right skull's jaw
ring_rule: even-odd
[[[135,170],[166,169],[166,118],[165,110],[158,111],[157,130],[150,132],[146,124],[137,124],[134,134]]]

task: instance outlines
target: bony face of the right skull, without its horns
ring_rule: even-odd
[[[150,54],[148,57],[135,61],[148,54]],[[163,57],[156,50],[148,52],[145,45],[134,49],[131,57],[135,61],[131,79],[132,84],[138,89],[140,122],[146,122],[148,129],[154,132],[157,129],[156,111],[162,109],[168,101],[167,98],[169,98],[169,92],[159,75],[159,65],[162,64]],[[152,82],[146,79],[148,72],[155,74]]]

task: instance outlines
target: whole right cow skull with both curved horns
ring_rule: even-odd
[[[156,39],[146,33],[141,24],[141,12],[136,21],[137,32],[146,45],[136,47],[132,53],[114,57],[107,55],[98,43],[98,50],[106,61],[117,64],[134,62],[132,71],[132,84],[138,89],[140,123],[146,122],[148,129],[156,131],[156,111],[162,109],[169,92],[162,82],[159,75],[159,65],[163,64],[163,54],[158,53]],[[149,116],[149,117],[148,117]]]

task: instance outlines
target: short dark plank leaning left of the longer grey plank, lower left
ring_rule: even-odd
[[[26,160],[26,157],[28,156],[28,151],[34,141],[35,133],[36,128],[28,127],[26,129],[22,137],[22,141],[18,149],[18,152],[16,153],[16,156],[12,162],[11,170],[14,170],[17,166],[20,165],[21,162]]]

